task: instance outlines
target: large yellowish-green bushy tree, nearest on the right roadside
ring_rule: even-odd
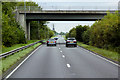
[[[90,29],[90,41],[93,46],[120,52],[119,14],[108,12],[100,21],[96,21]]]

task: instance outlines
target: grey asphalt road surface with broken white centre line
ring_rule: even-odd
[[[10,78],[118,78],[118,67],[81,47],[42,45]]]

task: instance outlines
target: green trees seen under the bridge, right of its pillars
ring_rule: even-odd
[[[30,39],[43,40],[51,38],[54,35],[54,32],[46,24],[46,21],[30,22]]]

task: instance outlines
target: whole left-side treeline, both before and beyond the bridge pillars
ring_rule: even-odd
[[[39,7],[38,4],[35,2],[2,2],[2,44],[3,47],[7,46],[10,47],[14,44],[20,43],[27,43],[25,39],[25,32],[22,29],[22,26],[19,25],[18,22],[15,20],[15,14],[13,13],[16,9],[16,6],[36,6]],[[39,7],[40,8],[40,7]],[[47,28],[49,33],[53,33],[47,26],[47,22],[41,21],[40,24],[36,21],[32,21],[32,30],[31,30],[31,39],[43,39],[43,35],[47,34],[44,33],[44,29]],[[34,26],[36,25],[36,26]],[[38,29],[39,28],[39,29]],[[42,33],[41,33],[42,32]],[[37,36],[36,33],[39,33]],[[53,34],[52,34],[53,35]],[[37,36],[37,37],[36,37]],[[51,35],[49,35],[51,36]]]

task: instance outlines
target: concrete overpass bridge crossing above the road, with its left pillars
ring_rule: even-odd
[[[114,13],[115,10],[111,10]],[[96,21],[102,19],[106,10],[42,10],[41,8],[17,8],[16,20],[30,40],[30,21]]]

